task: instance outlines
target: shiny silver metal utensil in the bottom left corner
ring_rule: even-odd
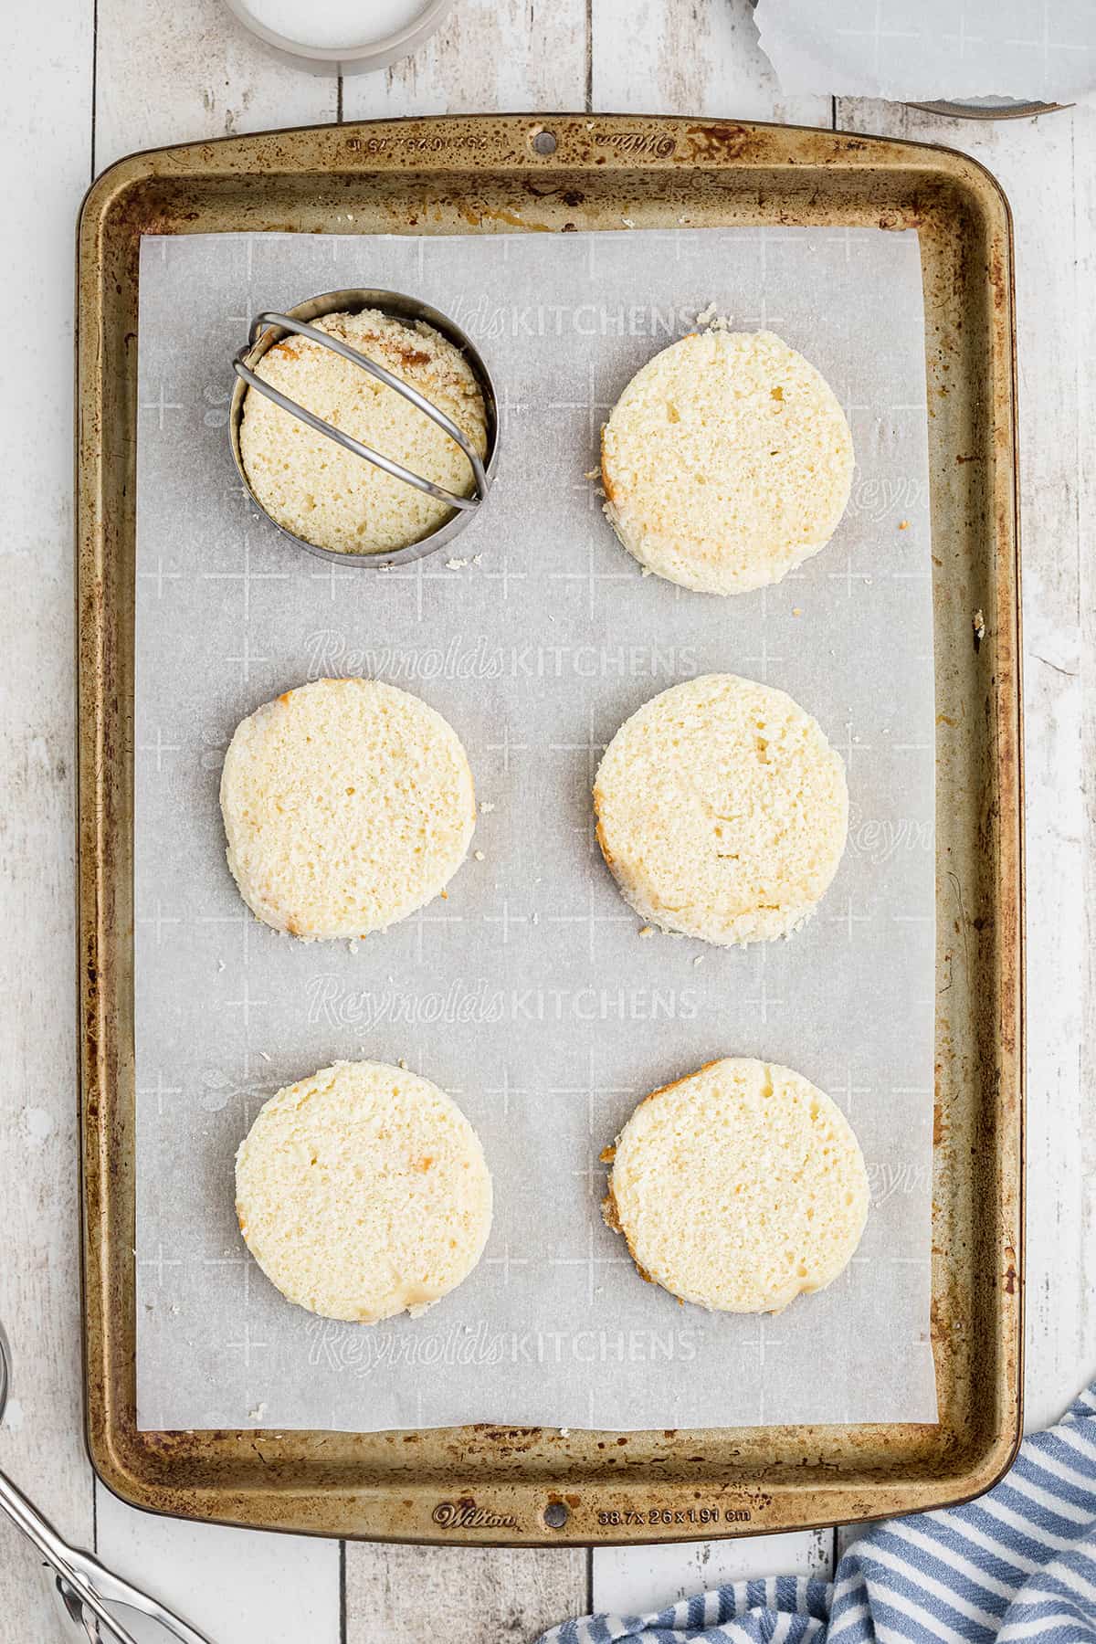
[[[0,1325],[0,1415],[8,1399],[12,1381],[12,1350]],[[120,1575],[107,1570],[105,1565],[79,1547],[69,1547],[58,1535],[53,1524],[41,1516],[21,1489],[0,1473],[0,1512],[23,1531],[43,1559],[53,1565],[58,1578],[58,1591],[67,1614],[84,1628],[92,1641],[115,1639],[117,1644],[136,1644],[133,1634],[115,1616],[110,1614],[104,1600],[115,1605],[128,1605],[150,1619],[158,1621],[181,1644],[210,1644],[204,1632],[182,1621],[158,1600],[143,1593],[140,1586],[131,1586]],[[90,1611],[90,1614],[87,1614]],[[92,1619],[95,1618],[95,1619]]]

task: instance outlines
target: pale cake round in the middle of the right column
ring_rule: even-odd
[[[593,784],[621,894],[664,931],[718,947],[795,931],[848,834],[845,764],[784,690],[703,674],[646,702]]]

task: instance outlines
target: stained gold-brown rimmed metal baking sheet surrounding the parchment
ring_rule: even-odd
[[[555,148],[534,140],[547,127]],[[935,1427],[148,1434],[135,1419],[133,475],[141,233],[917,227],[937,677]],[[1019,1434],[1020,695],[1009,214],[965,156],[733,122],[444,118],[133,156],[79,268],[81,1037],[87,1419],[127,1499],[371,1539],[754,1534],[984,1488]],[[882,301],[882,294],[881,294]],[[974,613],[984,618],[978,640]],[[564,1511],[565,1509],[565,1511]]]

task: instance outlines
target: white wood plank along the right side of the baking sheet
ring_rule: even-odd
[[[1084,914],[1096,819],[1083,761],[1096,738],[1096,635],[1091,526],[1078,495],[1081,460],[1091,487],[1096,444],[1086,380],[1091,302],[1080,275],[1094,255],[1096,110],[984,125],[841,102],[838,120],[974,155],[1001,181],[1014,214],[1027,745],[1025,1414],[1029,1429],[1042,1427],[1096,1369],[1096,1307],[1086,1282],[1096,1128],[1096,1085],[1086,1075],[1096,993]]]

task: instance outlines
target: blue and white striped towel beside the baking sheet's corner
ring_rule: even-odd
[[[541,1644],[1096,1644],[1096,1383],[978,1501],[876,1524],[833,1582],[736,1582]]]

